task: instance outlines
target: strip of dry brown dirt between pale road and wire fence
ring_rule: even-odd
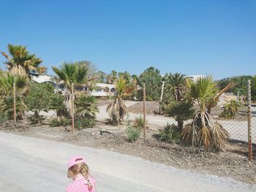
[[[209,153],[203,148],[159,142],[153,137],[157,132],[151,130],[147,131],[146,141],[141,136],[137,142],[131,143],[126,139],[124,126],[113,127],[102,123],[98,123],[97,128],[75,130],[74,134],[69,131],[69,127],[31,126],[25,121],[17,123],[16,126],[11,121],[1,123],[0,130],[80,146],[104,148],[175,166],[178,169],[189,169],[203,174],[232,177],[245,183],[256,183],[256,148],[254,148],[254,159],[249,163],[246,158],[247,146],[243,143],[230,144],[225,152]]]

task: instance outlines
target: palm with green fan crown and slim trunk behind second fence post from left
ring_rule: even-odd
[[[74,85],[81,85],[86,83],[87,74],[89,69],[84,65],[80,65],[79,62],[64,62],[60,68],[53,66],[53,72],[55,72],[60,80],[63,80],[68,88],[67,101],[70,104],[70,115],[72,118],[72,132],[74,132]],[[71,95],[69,94],[71,93]]]

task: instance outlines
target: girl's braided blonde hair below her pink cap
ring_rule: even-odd
[[[75,176],[78,174],[82,174],[88,180],[89,166],[85,163],[79,163],[67,169],[67,177],[72,178],[72,180],[75,180]]]

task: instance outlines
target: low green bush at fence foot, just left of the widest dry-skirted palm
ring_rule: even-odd
[[[175,125],[167,125],[165,128],[159,130],[158,135],[162,142],[180,142],[181,140],[181,131]]]

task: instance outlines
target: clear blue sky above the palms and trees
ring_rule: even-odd
[[[104,72],[256,74],[255,0],[1,0],[0,16],[0,50],[26,45],[50,74],[80,60]]]

